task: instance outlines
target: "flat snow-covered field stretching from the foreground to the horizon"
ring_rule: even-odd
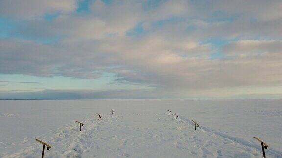
[[[282,100],[0,100],[1,158],[282,158],[281,131]]]

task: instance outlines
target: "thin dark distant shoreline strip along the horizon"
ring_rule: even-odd
[[[0,99],[0,100],[281,100],[281,99],[196,99],[196,98],[146,98],[146,99]]]

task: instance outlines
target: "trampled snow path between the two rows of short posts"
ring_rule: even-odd
[[[185,117],[167,113],[102,114],[101,120],[78,120],[52,133],[36,137],[52,148],[45,158],[261,158],[261,147],[251,141],[200,127]],[[34,145],[4,158],[39,158],[42,145]],[[268,158],[282,152],[266,150]]]

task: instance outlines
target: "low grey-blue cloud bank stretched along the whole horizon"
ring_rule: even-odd
[[[279,87],[281,88],[281,87]],[[218,96],[221,92],[225,95]],[[182,93],[182,95],[180,94]],[[241,94],[228,89],[210,89],[208,91],[188,91],[185,92],[162,91],[162,90],[142,90],[142,89],[119,89],[119,90],[51,90],[40,91],[0,91],[0,99],[281,99],[281,93],[250,93],[250,89],[244,90]],[[205,93],[205,94],[204,94]]]

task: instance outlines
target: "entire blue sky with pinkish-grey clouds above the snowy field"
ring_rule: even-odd
[[[0,99],[282,98],[281,0],[0,0]]]

